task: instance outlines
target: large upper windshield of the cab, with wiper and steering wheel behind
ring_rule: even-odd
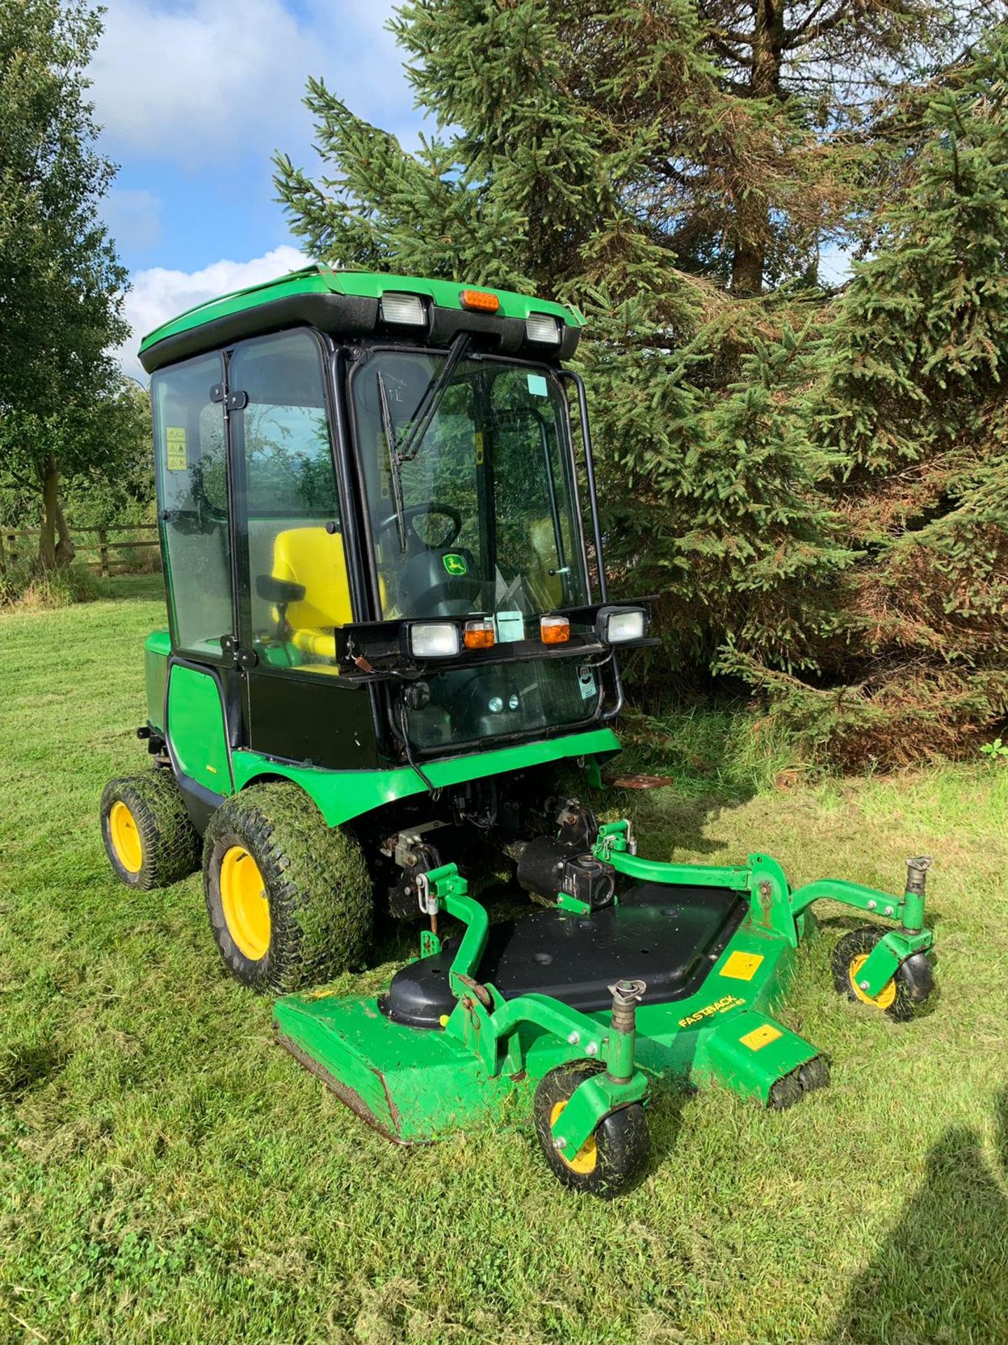
[[[566,404],[548,370],[382,351],[352,381],[382,615],[523,617],[587,601]],[[430,399],[427,399],[430,406]],[[426,417],[423,417],[426,418]]]

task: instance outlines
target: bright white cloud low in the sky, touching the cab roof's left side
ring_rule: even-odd
[[[152,266],[133,276],[133,288],[126,295],[125,315],[132,327],[132,336],[117,352],[124,373],[134,378],[145,378],[137,348],[141,338],[160,327],[171,317],[177,317],[187,308],[216,299],[233,289],[258,285],[289,270],[304,266],[306,258],[297,247],[286,243],[273,247],[262,257],[251,261],[215,261],[200,270],[168,270],[165,266]]]

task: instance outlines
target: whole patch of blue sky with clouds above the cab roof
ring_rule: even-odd
[[[353,112],[414,147],[421,118],[384,24],[391,0],[106,0],[91,66],[105,204],[133,288],[124,367],[164,317],[300,264],[273,200],[270,155],[309,169],[301,105],[324,77]]]

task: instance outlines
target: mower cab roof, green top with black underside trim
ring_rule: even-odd
[[[497,296],[496,313],[470,312],[462,305],[466,288]],[[548,299],[534,299],[488,285],[465,286],[450,280],[390,276],[367,270],[337,270],[313,262],[276,280],[233,291],[179,313],[144,336],[140,362],[148,373],[228,342],[308,324],[340,335],[370,335],[380,328],[380,300],[386,293],[413,293],[429,301],[423,340],[449,344],[458,331],[472,331],[496,340],[508,352],[526,339],[526,319],[548,313],[560,323],[560,347],[554,354],[570,358],[585,319],[574,308]],[[539,351],[542,355],[542,350]]]

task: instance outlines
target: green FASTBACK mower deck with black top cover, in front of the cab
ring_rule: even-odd
[[[581,1010],[602,1040],[612,1005],[607,987],[646,974],[637,1010],[637,1065],[656,1079],[723,1084],[769,1103],[778,1080],[818,1052],[769,1017],[793,948],[755,928],[746,913],[730,889],[672,893],[640,884],[618,905],[590,916],[542,911],[492,925],[476,981],[492,983],[507,1002],[548,995]],[[288,995],[276,1005],[278,1041],[358,1115],[401,1143],[495,1122],[509,1093],[531,1088],[582,1050],[538,1024],[521,1022],[511,1046],[521,1068],[488,1069],[445,1030],[457,1007],[449,981],[457,952],[458,939],[446,939],[439,952],[403,967],[378,998]],[[406,1015],[413,1022],[403,1021]]]

